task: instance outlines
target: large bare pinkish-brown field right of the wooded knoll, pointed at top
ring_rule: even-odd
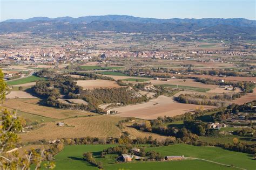
[[[185,112],[193,112],[201,105],[183,104],[173,101],[172,97],[159,96],[147,103],[127,105],[125,107],[113,108],[120,114],[114,116],[120,117],[137,117],[142,119],[156,119],[159,116],[176,116],[182,115]],[[215,108],[213,106],[203,106],[205,109]]]

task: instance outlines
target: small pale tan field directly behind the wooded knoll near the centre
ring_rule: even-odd
[[[110,80],[78,80],[77,85],[84,89],[120,87],[117,82]]]

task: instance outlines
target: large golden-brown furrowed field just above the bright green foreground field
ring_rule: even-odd
[[[58,138],[80,138],[80,137],[120,137],[122,130],[116,124],[124,118],[113,116],[93,116],[65,119],[67,127],[59,127],[57,122],[47,122],[39,129],[20,134],[22,141],[36,141],[40,139],[52,140]],[[132,137],[159,138],[159,135],[152,133],[139,132],[136,129],[129,130]],[[131,130],[131,131],[130,131]],[[161,138],[161,137],[160,137]],[[166,138],[166,137],[163,137]]]

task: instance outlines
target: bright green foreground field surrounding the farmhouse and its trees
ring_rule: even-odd
[[[100,158],[100,151],[116,145],[72,145],[56,155],[56,169],[98,169],[83,160],[84,152],[92,152],[96,161],[103,162],[104,169],[231,169],[224,165],[205,160],[183,160],[163,162],[130,162],[116,164],[117,155],[106,155]],[[255,169],[255,160],[250,154],[223,150],[219,147],[199,147],[177,144],[163,147],[145,147],[146,151],[154,150],[161,155],[184,155],[184,157],[201,158],[233,165],[246,169]]]

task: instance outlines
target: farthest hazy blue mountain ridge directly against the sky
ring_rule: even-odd
[[[180,19],[180,18],[171,18],[171,19],[157,19],[157,18],[141,18],[133,17],[126,15],[105,15],[105,16],[86,16],[86,17],[58,17],[58,18],[48,18],[48,17],[33,17],[29,19],[8,19],[4,22],[14,22],[14,23],[23,23],[23,22],[36,22],[36,21],[56,21],[56,22],[70,22],[73,24],[78,23],[91,23],[94,21],[120,21],[120,22],[132,22],[132,23],[152,23],[152,24],[163,24],[163,23],[172,23],[172,24],[199,24],[205,26],[214,26],[214,25],[233,25],[233,26],[256,26],[256,20],[248,20],[244,18],[202,18],[202,19]]]

